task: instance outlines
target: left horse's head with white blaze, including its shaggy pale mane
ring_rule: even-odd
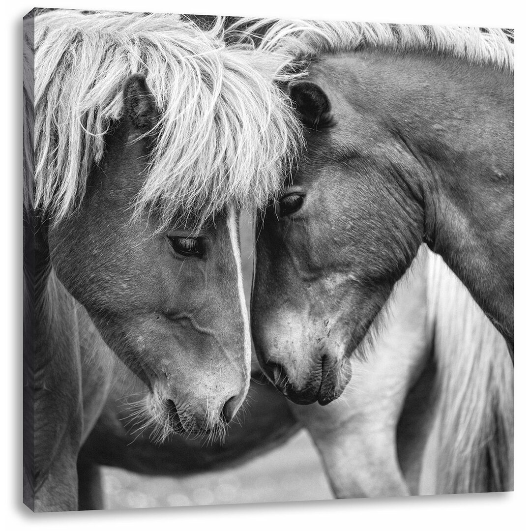
[[[52,278],[147,386],[134,422],[159,439],[215,434],[244,400],[237,216],[278,192],[301,134],[221,37],[221,19],[177,15],[52,12],[35,28],[33,206]]]

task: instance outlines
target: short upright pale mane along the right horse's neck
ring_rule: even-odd
[[[300,75],[323,54],[383,48],[393,52],[446,54],[470,63],[514,70],[513,30],[278,19],[241,19],[229,28],[241,42],[284,55],[279,79]]]

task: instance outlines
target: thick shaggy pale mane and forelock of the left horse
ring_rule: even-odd
[[[251,53],[179,15],[51,11],[35,23],[35,182],[24,202],[52,222],[80,204],[123,113],[122,87],[145,75],[160,118],[135,215],[213,217],[262,206],[301,142],[288,99]],[[25,39],[31,40],[31,39]],[[33,191],[35,196],[33,197]]]

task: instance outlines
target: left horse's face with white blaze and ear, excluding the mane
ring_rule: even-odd
[[[200,229],[133,220],[158,110],[142,75],[125,83],[123,119],[106,139],[74,215],[49,230],[59,280],[151,391],[161,427],[224,426],[249,388],[251,347],[234,207]]]

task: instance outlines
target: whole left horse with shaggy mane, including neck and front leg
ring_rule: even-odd
[[[275,193],[287,98],[176,15],[24,21],[24,502],[78,507],[116,370],[141,431],[221,434],[249,388],[237,212]],[[35,54],[35,55],[33,55]],[[35,76],[35,77],[33,77]]]

